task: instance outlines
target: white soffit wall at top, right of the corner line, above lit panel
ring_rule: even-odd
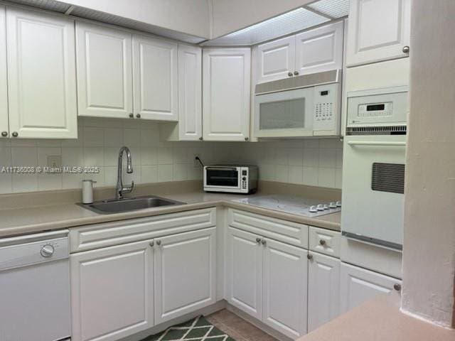
[[[254,23],[278,16],[314,0],[211,0],[213,31],[217,38]]]

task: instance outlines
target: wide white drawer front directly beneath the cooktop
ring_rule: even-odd
[[[228,225],[308,249],[308,226],[254,213],[229,210]]]

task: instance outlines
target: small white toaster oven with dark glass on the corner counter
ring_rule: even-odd
[[[204,166],[204,190],[206,192],[255,193],[257,176],[257,166]]]

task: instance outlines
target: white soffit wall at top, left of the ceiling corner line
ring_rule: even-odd
[[[208,38],[209,0],[63,0],[132,20]]]

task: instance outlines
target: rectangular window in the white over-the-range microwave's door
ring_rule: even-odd
[[[305,128],[305,99],[289,99],[259,104],[259,129]]]

